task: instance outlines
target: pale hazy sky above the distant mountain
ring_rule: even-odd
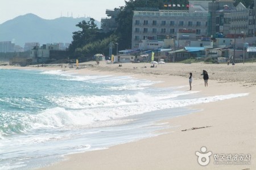
[[[100,21],[106,9],[119,6],[125,6],[125,0],[0,0],[0,24],[28,13],[43,19],[85,16]]]

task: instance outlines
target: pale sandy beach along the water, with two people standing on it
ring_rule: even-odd
[[[106,150],[67,155],[65,161],[41,169],[256,169],[256,63],[239,63],[235,66],[166,63],[154,68],[150,66],[150,63],[122,63],[122,67],[118,67],[118,64],[104,62],[97,66],[95,62],[88,62],[82,63],[80,69],[67,67],[66,71],[84,75],[130,75],[138,79],[161,81],[156,84],[158,87],[184,86],[181,90],[189,90],[188,77],[191,72],[192,91],[200,91],[201,96],[247,95],[193,105],[192,109],[197,109],[197,112],[164,120],[170,128],[157,137]],[[64,65],[43,67],[63,68]],[[204,87],[202,70],[208,71],[208,87]],[[207,148],[205,153],[212,153],[209,164],[205,166],[199,164],[196,155],[196,152],[204,154],[202,147]],[[229,154],[232,156],[230,160]],[[221,155],[224,155],[226,163],[223,163]]]

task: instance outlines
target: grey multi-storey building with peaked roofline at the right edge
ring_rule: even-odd
[[[255,8],[246,8],[242,3],[233,6],[233,0],[218,0],[209,3],[208,36],[222,33],[224,36],[236,35],[253,37],[255,32]]]

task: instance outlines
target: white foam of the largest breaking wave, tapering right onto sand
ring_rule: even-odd
[[[180,92],[187,94],[187,92]],[[175,96],[178,94],[175,94]],[[160,109],[187,107],[189,105],[242,97],[248,94],[230,94],[195,99],[174,100],[172,95],[152,97],[142,93],[134,96],[89,96],[74,99],[53,99],[60,102],[60,107],[46,109],[33,117],[37,128],[71,128],[73,126],[93,125],[97,122],[115,120],[136,114],[157,111]],[[63,102],[64,103],[61,103]],[[70,100],[70,101],[69,101]],[[75,102],[76,101],[76,102]],[[85,104],[88,102],[87,104]],[[73,104],[76,103],[76,104]],[[63,106],[71,108],[63,108]]]

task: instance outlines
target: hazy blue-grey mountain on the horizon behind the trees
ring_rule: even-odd
[[[24,46],[25,42],[39,42],[40,45],[53,42],[71,42],[72,32],[79,31],[76,24],[90,18],[61,17],[42,19],[34,14],[18,16],[0,24],[0,41],[12,41]],[[95,22],[100,28],[100,22]]]

